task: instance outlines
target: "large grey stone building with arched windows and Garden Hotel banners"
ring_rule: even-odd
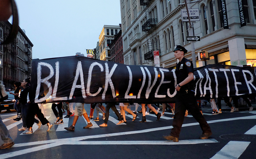
[[[194,49],[208,51],[210,60],[197,61],[197,67],[255,66],[256,1],[191,2],[187,0],[192,9],[198,8],[200,20],[192,22],[192,33],[189,33],[189,23],[182,21],[182,9],[186,9],[183,0],[120,0],[124,63],[154,66],[153,51],[159,50],[160,67],[173,68],[177,64],[173,54],[175,45],[184,46],[188,50],[185,57],[192,60],[192,44],[186,37],[199,36]]]

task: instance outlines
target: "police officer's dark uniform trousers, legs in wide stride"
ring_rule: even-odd
[[[192,116],[199,123],[203,133],[211,132],[209,125],[204,119],[203,115],[200,113],[194,92],[188,91],[188,93],[178,92],[176,95],[175,102],[175,115],[173,120],[173,129],[171,130],[171,135],[178,137],[181,132],[181,127],[184,121],[186,110],[190,110]]]

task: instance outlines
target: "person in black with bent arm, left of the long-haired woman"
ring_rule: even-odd
[[[17,104],[17,102],[18,102],[18,98],[19,98],[19,92],[21,90],[20,89],[21,82],[20,81],[14,82],[14,86],[15,86],[14,93],[9,92],[10,94],[14,95],[14,99],[15,99],[14,109],[17,111],[17,118],[15,118],[13,120],[20,121],[21,120],[21,107],[20,107],[20,104]]]

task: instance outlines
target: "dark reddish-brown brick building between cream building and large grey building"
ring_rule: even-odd
[[[124,63],[123,57],[123,39],[122,39],[122,30],[115,35],[115,38],[111,41],[109,45],[110,49],[110,61],[117,63]]]

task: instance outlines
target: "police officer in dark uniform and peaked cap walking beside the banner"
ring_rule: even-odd
[[[207,139],[211,134],[211,129],[199,111],[197,101],[194,96],[194,74],[193,64],[186,59],[184,55],[188,52],[184,47],[177,45],[174,49],[174,56],[180,62],[177,64],[175,73],[177,76],[176,98],[175,98],[175,115],[173,120],[173,129],[170,135],[163,136],[174,142],[179,141],[181,127],[184,121],[186,110],[190,110],[192,116],[199,123],[203,133],[200,139]]]

